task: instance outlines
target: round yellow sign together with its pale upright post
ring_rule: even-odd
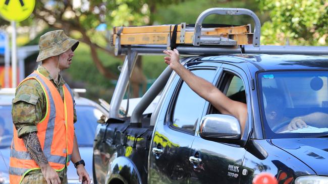
[[[27,19],[34,10],[35,0],[0,0],[0,15],[12,26],[12,87],[17,86],[16,22]]]

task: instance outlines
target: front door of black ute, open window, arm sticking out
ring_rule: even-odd
[[[246,103],[245,91],[249,94],[247,92],[249,88],[248,82],[245,82],[245,78],[247,79],[245,73],[237,67],[229,65],[223,65],[222,67],[223,71],[217,81],[218,88],[232,100]],[[247,99],[247,101],[250,100]],[[206,105],[208,108],[204,109],[203,116],[206,114],[220,114],[209,103]],[[250,109],[249,104],[247,108]],[[251,115],[248,116],[248,121],[250,121]],[[205,140],[198,135],[198,131],[196,132],[190,156],[199,158],[201,163],[190,164],[189,183],[239,183],[245,149],[235,142],[224,143]],[[245,136],[246,134],[242,136],[242,139],[247,139]]]

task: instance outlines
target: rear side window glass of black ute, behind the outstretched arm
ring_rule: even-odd
[[[212,82],[215,70],[198,69],[191,70],[191,72]],[[205,100],[199,97],[185,82],[182,82],[173,110],[172,125],[194,132],[199,113],[202,112],[204,104]]]

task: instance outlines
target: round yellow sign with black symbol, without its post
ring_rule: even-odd
[[[33,12],[35,0],[0,0],[0,15],[8,21],[23,21]]]

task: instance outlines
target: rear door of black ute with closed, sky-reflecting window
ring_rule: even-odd
[[[216,67],[189,67],[212,82]],[[189,155],[205,100],[176,78],[157,118],[149,155],[150,183],[187,183]]]

